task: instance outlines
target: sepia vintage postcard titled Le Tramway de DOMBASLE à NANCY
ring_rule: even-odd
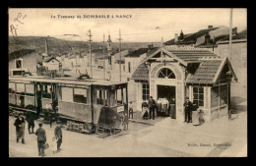
[[[247,9],[8,15],[9,157],[247,157]]]

